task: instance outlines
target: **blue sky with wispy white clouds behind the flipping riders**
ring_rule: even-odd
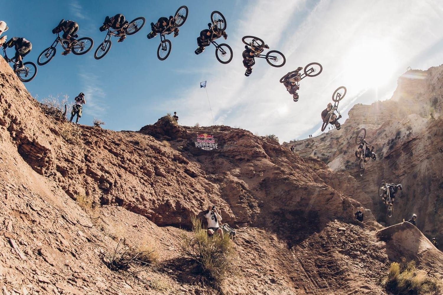
[[[9,30],[3,35],[25,37],[32,51],[25,61],[36,63],[55,39],[51,30],[60,19],[79,25],[79,37],[91,37],[93,49],[82,56],[62,56],[39,66],[34,80],[25,83],[37,100],[79,92],[86,104],[79,123],[94,118],[111,130],[140,130],[167,113],[177,111],[179,124],[227,125],[254,134],[275,134],[280,142],[320,134],[321,112],[340,86],[347,88],[339,104],[343,123],[356,103],[370,104],[392,96],[398,77],[408,67],[426,70],[443,63],[443,2],[441,0],[23,0],[20,13],[14,1],[2,5]],[[186,5],[189,15],[172,42],[165,61],[156,57],[159,36],[148,39],[150,23],[174,15]],[[196,38],[207,28],[212,11],[226,18],[227,40],[233,60],[223,65],[215,47],[199,55]],[[6,12],[6,13],[5,13]],[[105,16],[123,14],[127,20],[143,16],[145,26],[118,43],[109,53],[93,57],[105,32]],[[241,53],[245,35],[257,36],[286,57],[281,68],[256,58],[253,73],[245,77]],[[264,52],[266,53],[266,51]],[[13,49],[8,50],[13,55]],[[323,65],[317,77],[300,82],[294,102],[280,78],[311,62]],[[207,80],[206,89],[200,82]]]

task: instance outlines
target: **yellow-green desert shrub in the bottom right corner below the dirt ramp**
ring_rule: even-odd
[[[387,291],[398,295],[441,294],[439,283],[417,270],[414,261],[392,262],[382,283]]]

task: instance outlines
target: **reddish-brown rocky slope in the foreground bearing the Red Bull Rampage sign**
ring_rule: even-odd
[[[353,220],[372,196],[348,173],[228,126],[74,125],[48,116],[3,60],[0,87],[4,294],[386,294],[392,242],[371,211]],[[220,290],[179,267],[190,215],[213,203],[237,229],[237,270]],[[158,266],[136,276],[106,266],[118,246],[145,240]]]

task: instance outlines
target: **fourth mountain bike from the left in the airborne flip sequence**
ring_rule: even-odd
[[[173,31],[172,29],[178,28],[183,26],[183,23],[185,23],[186,19],[188,18],[188,8],[186,6],[180,6],[177,11],[175,11],[175,15],[173,20],[173,23],[168,24],[161,32],[151,32],[148,34],[148,39],[154,38],[156,34],[160,34],[160,45],[157,49],[157,58],[160,61],[164,61],[167,59],[169,54],[171,53],[171,41],[166,39],[165,35],[171,34]]]

